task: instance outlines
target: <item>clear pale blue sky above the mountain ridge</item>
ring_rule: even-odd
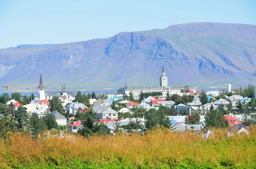
[[[1,0],[0,49],[191,22],[256,25],[255,0]]]

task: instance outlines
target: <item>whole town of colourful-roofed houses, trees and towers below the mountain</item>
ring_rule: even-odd
[[[164,66],[157,87],[125,86],[117,95],[76,95],[62,84],[60,92],[45,92],[43,74],[40,73],[38,97],[33,94],[20,97],[19,93],[0,96],[1,118],[13,117],[20,122],[20,130],[35,137],[46,129],[56,133],[79,133],[87,136],[102,132],[115,135],[140,132],[164,126],[174,132],[193,130],[206,135],[211,127],[248,133],[248,126],[256,124],[256,99],[253,85],[244,89],[195,91],[189,86],[168,86]],[[91,120],[98,130],[86,129]],[[16,121],[16,122],[15,122]],[[90,130],[90,132],[88,132]],[[230,134],[230,133],[229,133]]]

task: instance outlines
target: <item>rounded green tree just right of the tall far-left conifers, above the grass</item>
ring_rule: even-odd
[[[30,118],[29,124],[31,126],[32,135],[43,133],[47,130],[46,122],[39,118],[38,115],[33,115]]]

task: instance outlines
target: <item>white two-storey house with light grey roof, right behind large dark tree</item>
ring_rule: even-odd
[[[118,119],[118,112],[105,106],[93,106],[92,108],[96,112],[96,117],[100,119]]]

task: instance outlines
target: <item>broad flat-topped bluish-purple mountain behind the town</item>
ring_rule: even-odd
[[[256,82],[256,26],[185,23],[166,29],[120,32],[67,44],[0,49],[0,84],[36,89],[118,89],[159,86],[162,65],[169,85],[212,86]]]

